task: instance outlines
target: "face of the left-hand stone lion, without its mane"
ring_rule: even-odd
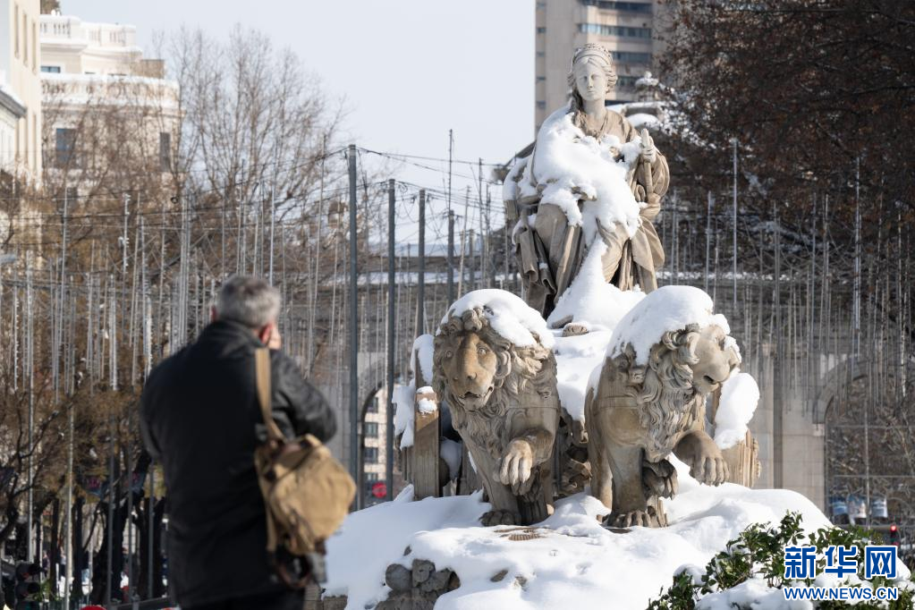
[[[493,348],[475,332],[451,337],[442,346],[442,372],[454,401],[467,411],[476,411],[490,400],[495,389],[499,358]]]

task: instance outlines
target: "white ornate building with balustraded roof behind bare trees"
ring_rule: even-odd
[[[45,159],[53,171],[92,181],[104,141],[124,140],[132,166],[167,173],[173,166],[181,119],[178,83],[162,59],[145,59],[136,27],[90,23],[77,16],[41,16],[41,83]],[[125,125],[129,125],[125,127]]]

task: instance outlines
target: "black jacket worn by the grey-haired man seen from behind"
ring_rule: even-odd
[[[168,580],[183,606],[281,588],[266,560],[253,466],[258,437],[265,438],[254,384],[254,349],[261,347],[247,328],[217,321],[146,381],[140,423],[147,450],[165,470]],[[270,356],[280,429],[327,441],[337,429],[328,402],[292,359]]]

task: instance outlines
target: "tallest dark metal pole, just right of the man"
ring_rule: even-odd
[[[356,257],[356,144],[348,150],[350,162],[350,474],[353,480],[359,478],[359,265]],[[360,490],[361,491],[361,490]],[[360,494],[356,494],[356,508],[359,508]]]

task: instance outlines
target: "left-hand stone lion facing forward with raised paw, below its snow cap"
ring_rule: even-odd
[[[529,347],[502,337],[488,313],[475,307],[443,321],[432,385],[492,504],[483,525],[530,525],[546,519],[553,501],[556,361],[541,337]]]

